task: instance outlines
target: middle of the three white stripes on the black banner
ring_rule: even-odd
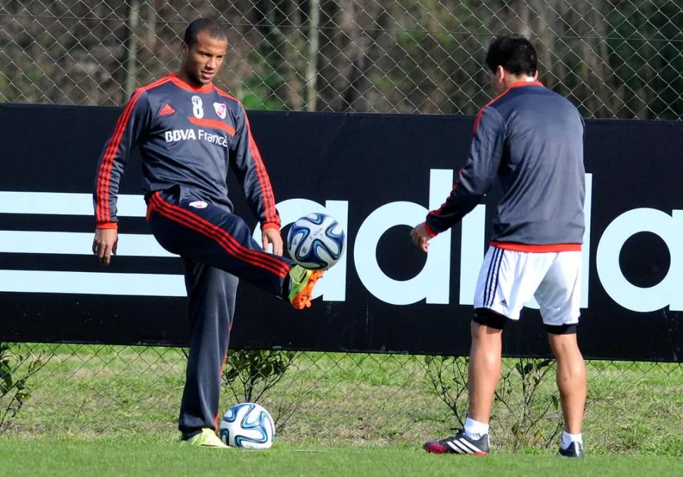
[[[0,253],[90,255],[93,237],[94,233],[0,230]],[[116,255],[176,256],[149,234],[120,234]]]

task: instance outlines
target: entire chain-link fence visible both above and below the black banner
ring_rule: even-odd
[[[198,16],[229,25],[218,83],[247,109],[474,114],[490,99],[489,41],[519,32],[544,84],[588,118],[683,113],[679,0],[4,0],[0,101],[121,105],[177,69]],[[175,432],[184,349],[14,344],[0,355],[0,430]],[[415,445],[463,419],[466,364],[297,353],[259,401],[284,441]],[[553,362],[506,359],[503,376],[494,446],[556,445]],[[681,455],[682,383],[674,364],[589,362],[591,451]],[[221,409],[243,391],[226,379]]]

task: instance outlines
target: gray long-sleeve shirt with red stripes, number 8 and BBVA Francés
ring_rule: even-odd
[[[97,166],[98,228],[115,228],[118,186],[130,151],[142,155],[143,192],[181,190],[232,211],[232,171],[262,228],[280,228],[270,178],[242,104],[215,85],[196,88],[175,74],[137,89],[107,140]]]

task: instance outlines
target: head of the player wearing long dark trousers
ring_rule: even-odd
[[[223,64],[225,27],[213,18],[197,18],[187,25],[180,50],[182,76],[195,86],[208,85]]]

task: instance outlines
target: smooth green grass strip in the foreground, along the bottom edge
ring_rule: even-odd
[[[0,437],[0,469],[6,477],[56,476],[675,476],[683,460],[599,456],[581,461],[550,454],[489,457],[437,456],[400,447],[315,450],[276,444],[270,450],[180,447],[160,438],[13,439]]]

